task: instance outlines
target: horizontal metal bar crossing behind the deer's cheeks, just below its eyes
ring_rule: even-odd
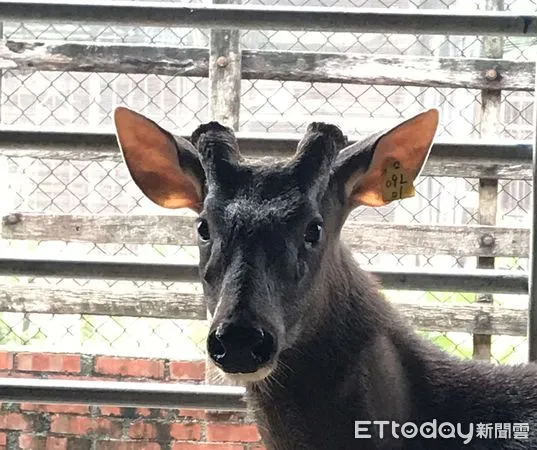
[[[525,273],[509,270],[384,270],[367,269],[384,289],[444,292],[527,294]],[[0,258],[1,275],[92,278],[138,281],[199,281],[196,264],[131,261],[72,261],[44,258]]]

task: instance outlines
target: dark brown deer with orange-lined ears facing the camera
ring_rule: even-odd
[[[355,208],[415,194],[438,109],[352,144],[312,122],[276,160],[243,156],[214,120],[190,139],[126,106],[113,121],[142,193],[195,212],[208,358],[244,385],[267,449],[537,448],[537,365],[420,336],[341,239]]]

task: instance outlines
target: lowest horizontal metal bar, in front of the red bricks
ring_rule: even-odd
[[[238,386],[0,378],[0,402],[246,410]]]

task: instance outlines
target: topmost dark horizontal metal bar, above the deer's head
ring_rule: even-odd
[[[440,10],[192,6],[171,2],[5,1],[0,21],[356,33],[537,36],[537,16]]]

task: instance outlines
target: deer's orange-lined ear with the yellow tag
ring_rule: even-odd
[[[383,206],[412,197],[414,181],[429,156],[438,128],[439,111],[431,109],[408,119],[370,143],[342,150],[340,176],[352,207]]]

